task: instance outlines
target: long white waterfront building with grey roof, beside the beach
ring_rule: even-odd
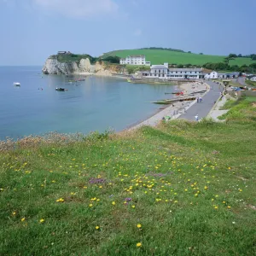
[[[168,68],[168,63],[164,65],[152,65],[150,73],[144,76],[159,79],[203,79],[202,68]]]

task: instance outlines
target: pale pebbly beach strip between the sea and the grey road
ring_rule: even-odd
[[[201,91],[201,90],[209,90],[209,87],[207,84],[201,84],[201,82],[195,82],[195,83],[186,83],[181,84],[177,86],[177,91],[182,90],[184,93],[184,96],[188,96],[192,92]],[[196,93],[195,96],[203,96],[204,93]],[[167,98],[167,97],[166,97]],[[127,130],[134,130],[137,129],[143,125],[149,125],[149,126],[155,126],[158,125],[160,120],[163,119],[163,117],[170,117],[171,119],[177,119],[181,114],[185,113],[193,104],[195,104],[195,101],[189,101],[189,102],[175,102],[171,105],[168,105],[166,108],[166,105],[162,108],[165,108],[161,110],[159,113],[155,113],[152,117],[144,120],[143,122],[139,123],[138,125],[134,125],[131,128],[128,128]]]

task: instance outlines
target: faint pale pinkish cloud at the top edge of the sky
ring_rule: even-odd
[[[113,0],[32,0],[32,2],[39,9],[75,18],[109,15],[118,10],[118,5]]]

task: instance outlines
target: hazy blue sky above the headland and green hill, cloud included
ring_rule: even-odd
[[[256,0],[0,0],[0,66],[44,65],[59,50],[252,54],[255,9]]]

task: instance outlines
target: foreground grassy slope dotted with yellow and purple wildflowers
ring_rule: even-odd
[[[227,123],[0,143],[0,254],[253,255],[253,102]]]

